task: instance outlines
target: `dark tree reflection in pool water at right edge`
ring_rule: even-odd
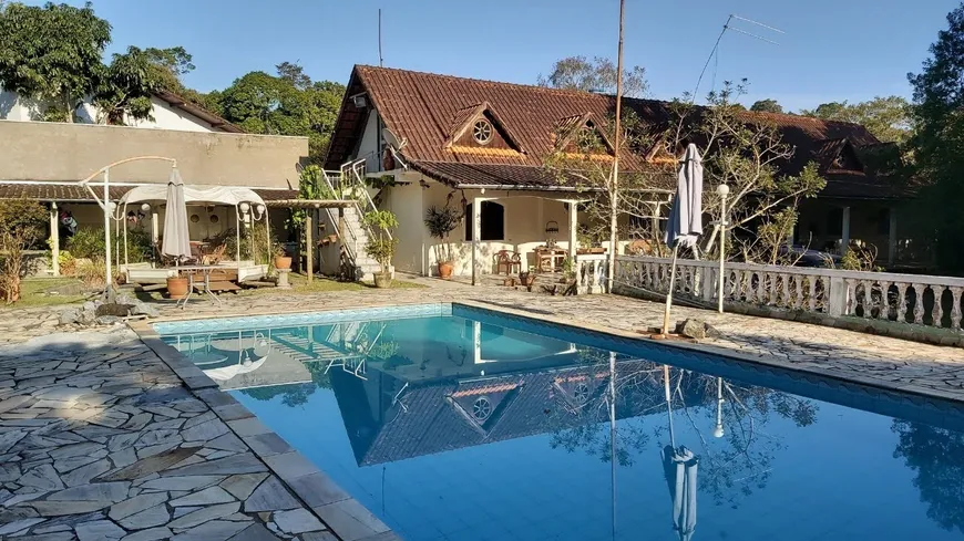
[[[894,458],[916,472],[914,487],[927,503],[927,518],[945,530],[964,532],[964,434],[894,419]]]

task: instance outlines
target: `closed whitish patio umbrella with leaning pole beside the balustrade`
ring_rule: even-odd
[[[696,145],[690,143],[679,164],[676,183],[676,197],[666,225],[666,245],[673,247],[673,266],[669,271],[669,291],[666,294],[666,310],[663,314],[663,334],[669,332],[669,310],[673,306],[673,289],[676,283],[676,260],[679,246],[696,247],[697,238],[703,235],[703,158]]]

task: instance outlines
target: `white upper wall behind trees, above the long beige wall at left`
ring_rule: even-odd
[[[156,129],[173,129],[181,132],[217,132],[211,124],[178,108],[172,107],[167,102],[154,97],[151,100],[154,108],[151,115],[153,119],[137,121],[127,118],[126,123],[133,127],[146,127]],[[11,91],[0,89],[0,119],[3,121],[38,121],[44,111],[44,104],[24,98]],[[96,124],[100,112],[90,103],[84,103],[76,111],[79,122]]]

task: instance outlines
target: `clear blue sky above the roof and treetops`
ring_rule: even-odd
[[[72,1],[80,4],[82,2]],[[626,0],[625,62],[646,67],[650,96],[690,91],[729,13],[778,27],[736,32],[720,44],[701,86],[747,77],[745,102],[772,97],[788,110],[828,101],[910,95],[945,15],[958,0]],[[673,4],[673,6],[670,6]],[[146,6],[151,6],[146,9]],[[557,59],[616,56],[617,0],[94,0],[114,27],[111,50],[183,45],[197,70],[186,83],[222,89],[253,70],[299,61],[315,80],[347,82],[352,64],[384,65],[533,83]]]

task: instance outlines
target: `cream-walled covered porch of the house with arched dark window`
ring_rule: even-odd
[[[561,272],[567,259],[605,254],[613,248],[607,239],[593,240],[586,235],[593,222],[585,208],[591,197],[586,193],[562,186],[453,187],[414,170],[392,175],[393,185],[376,198],[380,208],[398,217],[392,263],[403,272],[437,277],[442,260],[452,262],[457,277]],[[461,215],[448,239],[429,235],[424,219],[432,207],[453,208]],[[626,233],[632,229],[628,222],[628,218],[621,219],[617,253],[639,243]],[[650,228],[648,221],[645,227]],[[506,254],[512,264],[504,264]]]

